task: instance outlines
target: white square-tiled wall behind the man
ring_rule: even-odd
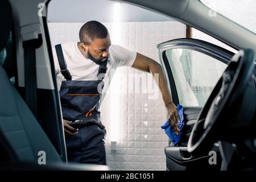
[[[52,46],[57,43],[79,40],[79,29],[84,23],[48,23]],[[112,23],[104,23],[112,35]],[[121,23],[120,45],[159,62],[156,45],[167,40],[184,38],[185,25],[179,22],[124,22]],[[133,68],[120,68],[119,73],[142,73]],[[149,74],[149,73],[148,73]],[[129,85],[129,79],[121,86]],[[141,83],[140,83],[141,84]],[[112,85],[110,85],[111,87]],[[168,137],[160,126],[166,121],[162,96],[156,100],[149,93],[121,94],[118,124],[119,140],[116,150],[111,150],[109,132],[109,94],[102,102],[102,121],[107,129],[106,151],[108,166],[114,170],[165,170],[164,147]]]

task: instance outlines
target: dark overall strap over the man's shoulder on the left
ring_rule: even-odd
[[[69,71],[67,69],[66,62],[64,60],[61,44],[57,44],[55,46],[55,49],[56,49],[57,58],[58,58],[59,65],[60,65],[60,72],[61,72],[61,74],[64,76],[64,78],[66,80],[72,80],[72,76],[70,75],[70,73],[69,73]]]

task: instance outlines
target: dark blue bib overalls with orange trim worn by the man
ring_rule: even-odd
[[[59,91],[63,119],[71,122],[77,120],[95,121],[79,129],[76,136],[66,137],[68,162],[106,165],[104,142],[106,129],[100,122],[100,111],[98,111],[101,97],[98,92],[98,84],[101,80],[72,81],[72,76],[64,60],[61,44],[57,44],[55,49],[60,72],[65,78],[65,81],[61,82]],[[102,61],[98,75],[106,73],[107,63],[108,60]]]

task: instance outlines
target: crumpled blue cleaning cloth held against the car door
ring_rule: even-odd
[[[169,121],[167,120],[166,123],[164,123],[163,126],[161,126],[162,129],[164,129],[164,131],[166,132],[166,134],[168,135],[168,137],[170,138],[170,140],[172,141],[172,143],[174,144],[174,146],[176,146],[177,143],[179,143],[180,141],[180,136],[182,133],[182,128],[184,126],[184,117],[183,117],[183,110],[184,107],[182,105],[177,105],[177,111],[180,117],[180,123],[178,122],[178,126],[180,127],[180,132],[178,135],[175,134],[174,130],[172,130],[172,127],[169,123]]]

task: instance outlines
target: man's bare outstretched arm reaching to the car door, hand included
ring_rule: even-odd
[[[166,80],[164,78],[164,73],[162,66],[157,63],[156,61],[146,57],[140,53],[137,53],[137,57],[133,63],[133,68],[137,68],[141,71],[151,73],[153,76],[154,74],[159,74],[159,89],[162,92],[164,104],[166,105],[167,109],[167,119],[170,122],[172,129],[176,134],[179,134],[179,126],[177,125],[177,121],[180,122],[179,115],[177,113],[177,108],[172,102],[172,98],[168,92]]]

